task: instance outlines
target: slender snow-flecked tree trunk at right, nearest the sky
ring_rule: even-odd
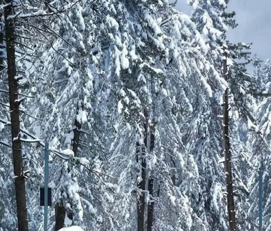
[[[227,53],[224,47],[224,59],[223,59],[223,75],[226,81],[228,81],[227,71]],[[228,87],[223,95],[223,140],[224,140],[224,156],[225,156],[225,175],[226,175],[226,190],[227,190],[227,208],[229,216],[229,230],[236,230],[235,210],[234,210],[234,198],[232,188],[232,167],[231,167],[231,150],[230,150],[230,137],[229,137],[229,103],[228,103]]]

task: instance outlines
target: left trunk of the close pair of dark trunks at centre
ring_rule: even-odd
[[[147,146],[147,116],[145,115],[145,122],[144,122],[144,144],[145,147]],[[145,147],[142,149],[137,143],[136,148],[136,161],[140,163],[141,172],[141,181],[137,182],[137,188],[140,191],[139,198],[137,198],[137,231],[144,231],[144,210],[145,210],[145,185],[146,185],[146,150]]]

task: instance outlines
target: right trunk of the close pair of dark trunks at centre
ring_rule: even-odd
[[[151,134],[150,134],[150,153],[153,153],[154,150],[154,128],[151,128]],[[148,190],[149,190],[149,195],[151,197],[151,201],[148,204],[148,219],[147,219],[147,231],[152,230],[153,226],[153,209],[154,209],[154,201],[153,201],[153,171],[151,171],[151,174],[149,176],[149,181],[148,181]]]

